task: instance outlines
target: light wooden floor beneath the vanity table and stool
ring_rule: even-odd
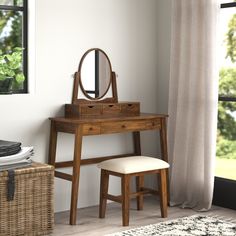
[[[98,218],[98,206],[79,209],[77,213],[77,225],[69,225],[69,212],[61,212],[55,215],[55,229],[53,235],[79,235],[79,236],[100,236],[108,233],[123,231],[128,228],[154,224],[168,219],[199,214],[190,209],[181,209],[178,207],[168,208],[168,218],[161,218],[159,202],[154,197],[144,199],[144,210],[137,211],[134,201],[131,202],[130,225],[121,226],[121,205],[118,203],[109,203],[107,205],[106,218]],[[236,211],[213,206],[212,210],[206,213],[222,216],[226,219],[236,220]]]

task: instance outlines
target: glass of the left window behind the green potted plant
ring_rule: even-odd
[[[0,10],[0,55],[2,60],[5,60],[6,63],[10,63],[9,60],[12,60],[10,66],[1,69],[0,76],[2,80],[3,76],[12,77],[12,89],[15,91],[23,89],[22,78],[19,76],[16,78],[16,76],[12,74],[13,72],[14,74],[21,74],[23,71],[22,52],[13,55],[17,48],[23,48],[22,21],[22,12]],[[6,70],[8,70],[9,67],[14,67],[14,71],[6,75]]]

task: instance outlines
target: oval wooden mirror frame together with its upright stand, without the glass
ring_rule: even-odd
[[[89,96],[86,93],[86,91],[85,91],[85,89],[83,87],[83,84],[82,84],[82,79],[81,79],[81,69],[82,69],[82,64],[83,64],[84,58],[88,55],[88,53],[90,53],[91,51],[94,51],[94,50],[99,50],[99,51],[101,51],[105,55],[105,57],[108,60],[110,69],[111,69],[110,81],[109,81],[109,84],[107,86],[107,89],[106,89],[106,91],[104,92],[103,95],[101,95],[100,97],[97,97],[97,98],[93,98],[93,97]],[[82,90],[83,95],[88,100],[87,99],[83,99],[83,98],[78,98],[79,87]],[[110,89],[110,87],[112,87],[112,97],[104,98],[104,96],[107,94],[107,92]],[[102,99],[102,98],[104,98],[104,99]],[[87,103],[88,104],[88,103],[94,103],[94,102],[97,102],[97,103],[102,103],[102,102],[105,102],[105,103],[111,103],[111,102],[116,103],[116,102],[118,102],[117,87],[116,87],[116,73],[114,71],[112,71],[112,66],[111,66],[111,62],[110,62],[109,57],[100,48],[91,48],[91,49],[87,50],[83,54],[83,56],[81,57],[81,60],[80,60],[80,63],[79,63],[79,67],[78,67],[78,71],[75,72],[75,74],[74,74],[74,87],[73,87],[73,95],[72,95],[72,104],[79,104],[79,103]]]

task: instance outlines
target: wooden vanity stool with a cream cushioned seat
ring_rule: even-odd
[[[169,164],[163,160],[147,156],[130,156],[103,161],[101,169],[99,218],[105,218],[107,199],[122,204],[123,226],[129,225],[129,200],[137,198],[137,209],[143,209],[143,195],[160,195],[161,216],[167,217],[167,169]],[[159,191],[144,187],[145,174],[158,174]],[[121,177],[121,196],[108,194],[109,175]],[[130,192],[130,179],[136,177],[136,191]]]

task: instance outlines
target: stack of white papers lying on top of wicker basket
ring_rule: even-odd
[[[0,156],[0,171],[30,166],[33,154],[33,147],[21,147],[21,150],[16,154]]]

